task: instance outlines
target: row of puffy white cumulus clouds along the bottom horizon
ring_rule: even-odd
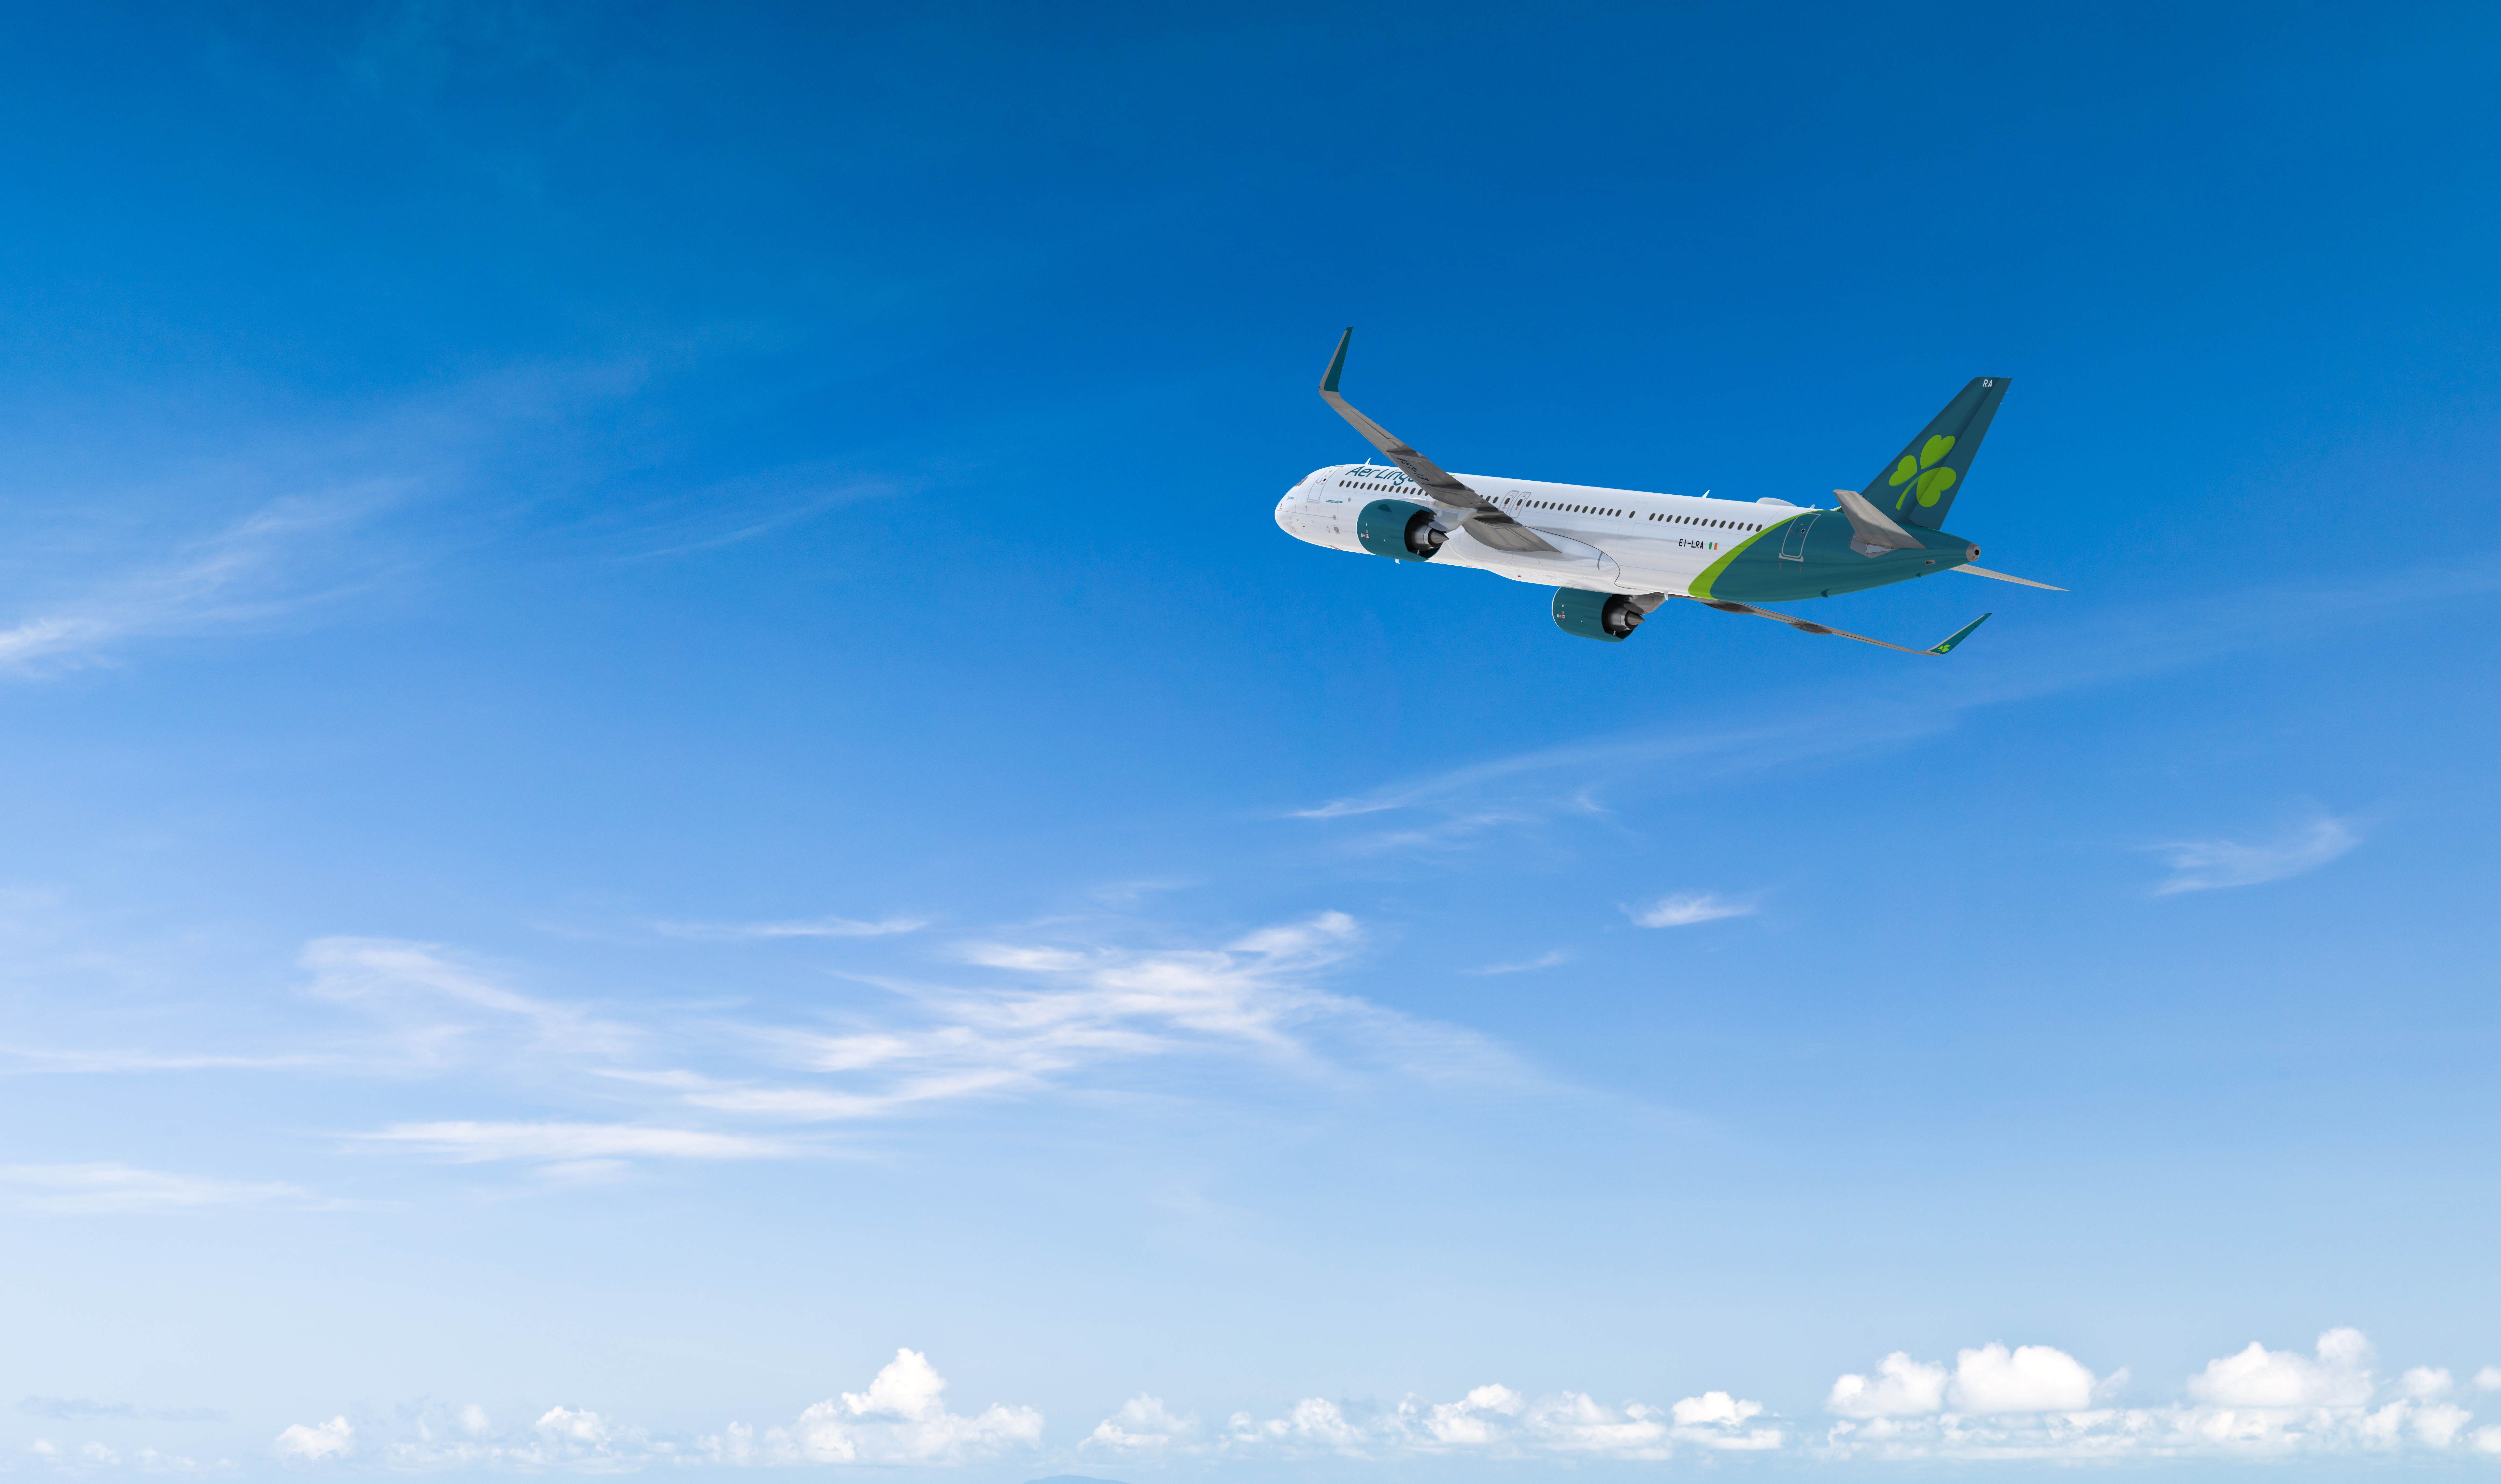
[[[2106,1401],[2126,1371],[2096,1376],[2076,1356],[2001,1341],[1956,1351],[1953,1366],[1908,1351],[1868,1374],[1841,1376],[1836,1421],[1806,1439],[1803,1459],[1931,1461],[2126,1461],[2126,1459],[2431,1459],[2501,1456],[2501,1424],[2451,1396],[2456,1379],[2413,1366],[2373,1376],[2371,1344],[2331,1329],[2308,1351],[2263,1341],[2216,1356],[2181,1384],[2181,1399],[2151,1406]],[[713,1436],[670,1439],[570,1404],[523,1429],[495,1434],[478,1406],[400,1409],[398,1424],[360,1436],[345,1416],[280,1434],[288,1461],[355,1456],[390,1471],[628,1471],[660,1464],[708,1466],[978,1466],[1043,1464],[1043,1416],[990,1404],[953,1411],[948,1384],[913,1349],[898,1349],[860,1391],[838,1391],[778,1426],[733,1421]],[[398,1426],[398,1436],[390,1431]],[[1065,1444],[1063,1444],[1065,1446]],[[1263,1469],[1298,1461],[1398,1464],[1483,1459],[1528,1464],[1698,1459],[1723,1451],[1786,1451],[1791,1424],[1733,1391],[1701,1391],[1671,1406],[1601,1401],[1588,1391],[1531,1396],[1488,1381],[1448,1401],[1398,1404],[1306,1396],[1276,1414],[1233,1411],[1203,1424],[1188,1406],[1143,1391],[1103,1416],[1060,1456],[1123,1466]],[[55,1449],[55,1461],[75,1454]],[[170,1464],[168,1464],[170,1466]],[[1005,1464],[998,1464],[1005,1466]]]

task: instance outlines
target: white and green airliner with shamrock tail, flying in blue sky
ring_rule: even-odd
[[[1908,648],[1756,608],[1861,593],[1931,573],[1968,573],[2026,588],[2053,588],[1971,566],[1981,548],[1948,536],[1946,511],[1971,473],[1988,420],[2006,398],[2003,375],[1976,375],[1901,455],[1863,490],[1833,490],[1838,508],[1788,501],[1713,501],[1558,485],[1548,480],[1453,475],[1416,453],[1338,395],[1348,328],[1321,378],[1321,400],[1388,455],[1388,465],[1316,468],[1276,503],[1276,523],[1296,541],[1331,551],[1428,561],[1488,571],[1553,588],[1563,633],[1623,643],[1671,598],[1721,613],[1773,618],[1801,633],[1856,638],[1901,653],[1941,656],[1971,638],[1981,613],[1931,648]]]

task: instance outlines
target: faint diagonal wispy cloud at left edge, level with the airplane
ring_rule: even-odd
[[[535,488],[600,478],[598,458],[550,453],[565,440],[545,430],[640,380],[630,358],[538,363],[338,418],[88,428],[90,448],[113,450],[103,480],[53,488],[20,475],[33,498],[0,513],[0,591],[13,593],[0,611],[0,678],[113,663],[145,641],[303,623],[405,583],[433,553],[495,528],[498,516],[458,531],[423,523],[493,488],[495,470],[528,468]],[[810,470],[760,483],[775,488],[703,506],[703,531],[673,521],[665,498],[608,501],[603,518],[635,523],[645,546],[640,533],[658,526],[700,548],[873,493]],[[500,496],[498,506],[510,508]]]

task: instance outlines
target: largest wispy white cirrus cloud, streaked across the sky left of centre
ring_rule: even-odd
[[[1338,1054],[1388,1061],[1403,1074],[1501,1074],[1508,1061],[1483,1039],[1383,1011],[1321,988],[1318,976],[1361,946],[1346,913],[1318,913],[1240,933],[1220,948],[1123,948],[1085,941],[970,941],[950,956],[990,983],[925,986],[878,981],[893,1014],[855,1014],[845,1031],[805,1026],[713,1026],[720,1064],[635,1066],[663,1036],[640,1029],[583,1034],[580,1011],[488,983],[423,943],[325,941],[313,961],[353,966],[370,999],[410,986],[425,996],[485,1006],[553,1026],[608,1084],[650,1089],[665,1104],[715,1119],[848,1124],[925,1114],[1000,1096],[1100,1089],[1120,1064],[1175,1056],[1258,1059],[1323,1071]],[[378,978],[380,988],[373,988]],[[430,1004],[430,1001],[428,1001]],[[445,1036],[428,1031],[425,1046]],[[745,1051],[738,1059],[738,1051]],[[658,1114],[658,1109],[655,1109]],[[360,1141],[458,1164],[525,1161],[555,1174],[600,1174],[635,1159],[793,1159],[813,1144],[645,1121],[410,1121]]]

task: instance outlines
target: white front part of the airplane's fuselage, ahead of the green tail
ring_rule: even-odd
[[[1786,501],[1653,496],[1473,473],[1456,478],[1543,536],[1556,553],[1496,551],[1461,526],[1433,556],[1433,566],[1483,568],[1541,588],[1686,593],[1686,583],[1728,548],[1798,513],[1798,506]],[[1356,543],[1356,516],[1373,501],[1433,506],[1396,468],[1341,463],[1318,468],[1286,490],[1276,503],[1276,523],[1298,541],[1363,553]]]

